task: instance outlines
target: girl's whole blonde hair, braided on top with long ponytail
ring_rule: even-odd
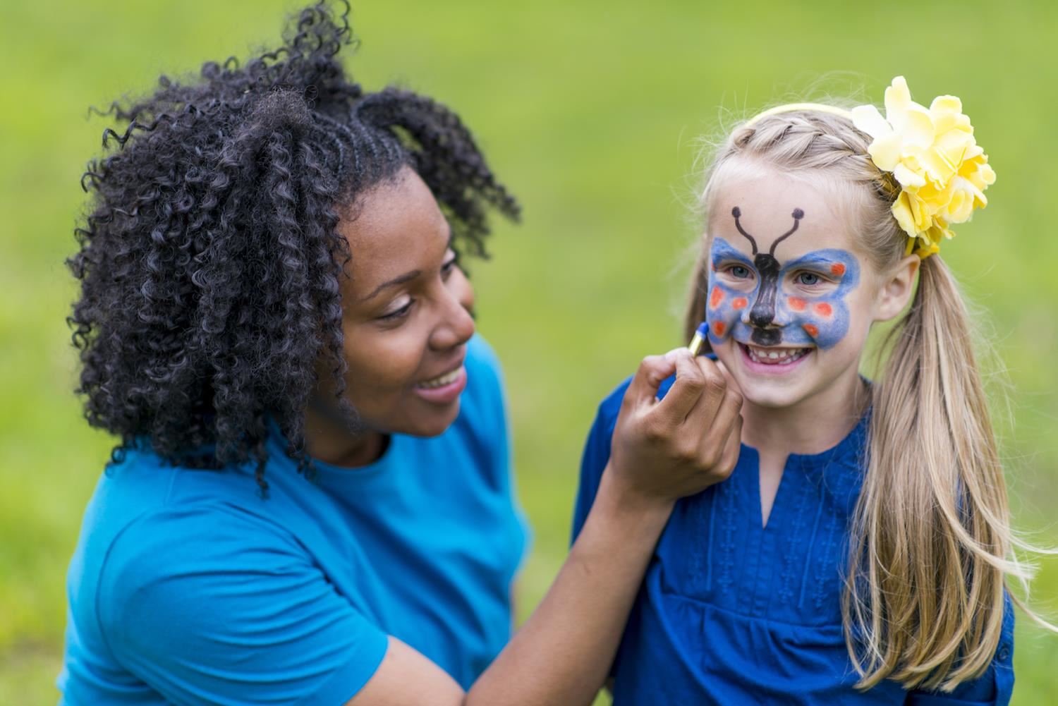
[[[868,157],[870,141],[849,119],[813,110],[741,125],[707,171],[704,214],[718,185],[745,169],[825,181],[851,197],[839,205],[875,271],[891,272],[907,234],[890,213],[898,186]],[[704,251],[688,339],[705,319]],[[1023,543],[1010,529],[966,306],[940,256],[919,272],[911,308],[883,346],[881,383],[872,386],[869,470],[851,528],[841,605],[862,689],[892,678],[950,690],[981,675],[1000,639],[1006,576],[1028,578],[1013,554]]]

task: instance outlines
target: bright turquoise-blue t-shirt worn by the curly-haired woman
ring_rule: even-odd
[[[464,688],[510,637],[526,545],[495,356],[468,345],[455,423],[395,434],[307,479],[269,440],[253,467],[107,468],[71,562],[61,703],[345,703],[394,635]]]

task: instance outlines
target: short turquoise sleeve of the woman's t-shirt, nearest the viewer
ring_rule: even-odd
[[[115,659],[174,704],[342,704],[387,636],[282,528],[234,508],[130,524],[101,574]]]

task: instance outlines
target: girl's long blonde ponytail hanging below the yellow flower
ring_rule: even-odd
[[[973,327],[937,255],[890,333],[874,385],[845,630],[861,688],[889,677],[950,689],[996,652],[1013,558],[1006,486]]]

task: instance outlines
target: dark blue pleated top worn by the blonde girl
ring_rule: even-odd
[[[603,400],[588,435],[574,538],[609,459],[627,386]],[[845,649],[840,596],[865,440],[867,417],[833,449],[790,454],[763,528],[760,459],[745,445],[730,477],[676,503],[613,666],[615,706],[1009,703],[1009,599],[996,656],[980,678],[949,694],[906,691],[892,681],[867,692],[853,688],[858,675]]]

